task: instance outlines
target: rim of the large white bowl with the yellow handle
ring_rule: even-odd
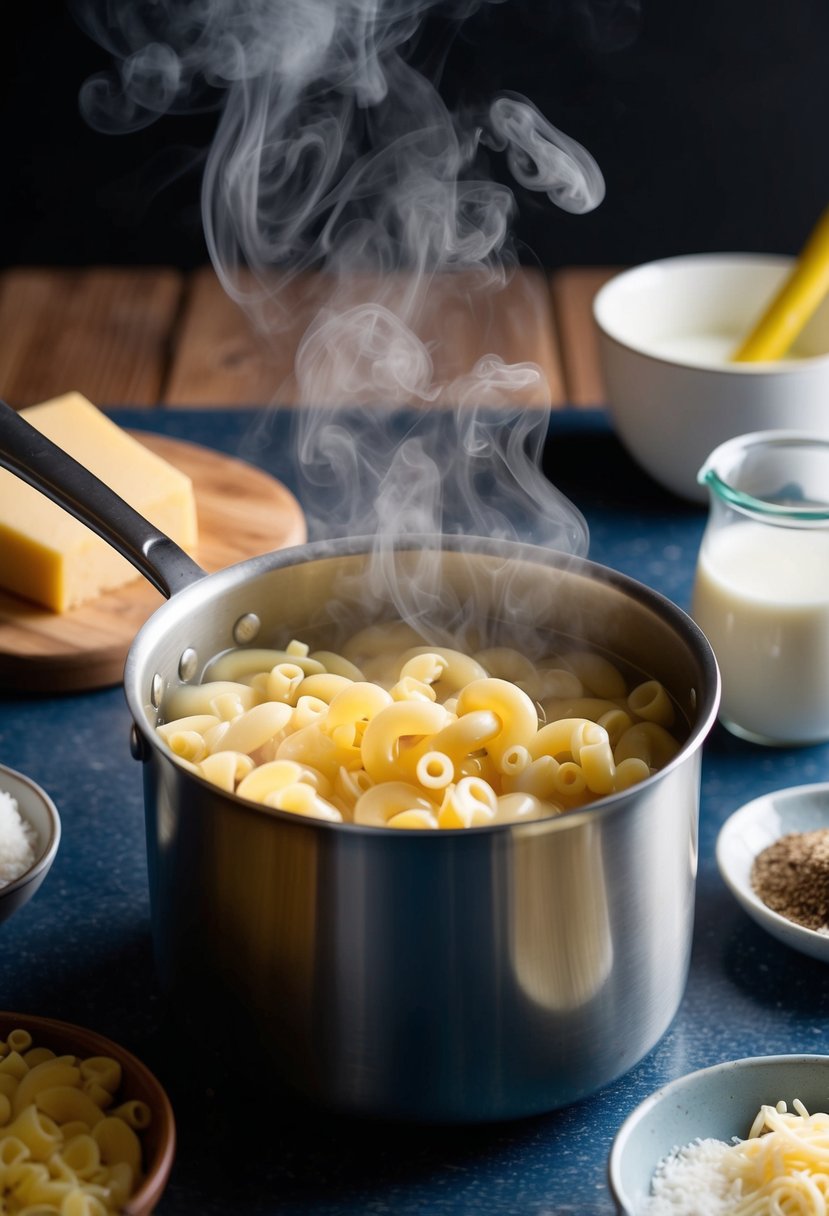
[[[642,359],[654,364],[662,364],[666,367],[682,367],[688,372],[720,372],[724,376],[793,376],[810,367],[820,367],[829,362],[829,351],[820,355],[805,355],[800,359],[784,362],[780,360],[724,364],[715,360],[686,360],[681,358],[669,358],[652,350],[647,343],[630,342],[621,338],[615,332],[614,326],[608,322],[604,315],[608,300],[617,292],[630,288],[631,283],[654,270],[682,270],[686,268],[715,268],[715,266],[757,266],[767,270],[784,270],[795,264],[795,259],[788,254],[778,253],[681,253],[669,258],[656,258],[652,261],[642,261],[635,266],[627,266],[617,271],[611,278],[599,287],[593,297],[592,315],[596,326],[608,342],[611,342],[620,350],[632,351]]]

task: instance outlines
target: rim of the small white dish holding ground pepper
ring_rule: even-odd
[[[735,874],[728,854],[732,837],[740,834],[739,829],[748,820],[755,818],[767,807],[771,809],[773,803],[779,803],[778,809],[780,815],[784,815],[786,804],[796,806],[799,801],[805,801],[814,796],[824,796],[827,799],[825,827],[829,827],[829,782],[817,781],[806,786],[786,786],[782,789],[772,789],[766,794],[760,794],[758,798],[752,798],[751,801],[745,803],[733,811],[717,833],[715,854],[722,880],[756,924],[766,929],[767,933],[772,933],[784,945],[791,946],[795,950],[802,950],[812,958],[829,962],[829,935],[818,933],[817,929],[808,929],[805,924],[797,924],[796,921],[790,921],[782,912],[769,908],[756,894],[751,884],[743,882]],[[801,828],[800,831],[805,829]],[[782,835],[785,834],[786,829],[784,828]],[[755,854],[754,856],[757,855]]]

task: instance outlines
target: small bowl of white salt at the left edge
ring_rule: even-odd
[[[0,922],[32,899],[60,843],[61,818],[49,794],[0,765]]]

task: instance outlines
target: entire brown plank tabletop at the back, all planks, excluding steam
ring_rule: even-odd
[[[603,404],[591,302],[611,274],[521,269],[495,294],[463,275],[439,276],[416,326],[435,379],[492,353],[541,367],[547,389],[534,390],[530,405]],[[294,404],[294,354],[321,281],[284,285],[287,322],[265,340],[212,268],[9,269],[0,272],[0,394],[18,409],[69,389],[102,406]],[[405,280],[396,286],[405,291]]]

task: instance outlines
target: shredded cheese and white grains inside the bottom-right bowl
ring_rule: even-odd
[[[829,1216],[829,1115],[761,1107],[746,1139],[699,1139],[656,1166],[642,1216]]]

